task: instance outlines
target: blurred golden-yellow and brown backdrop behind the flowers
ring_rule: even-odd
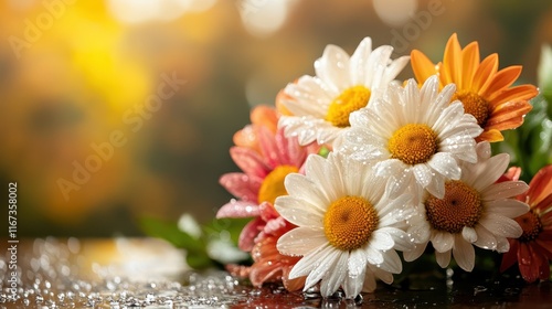
[[[232,198],[217,181],[237,171],[229,148],[250,108],[314,75],[327,44],[352,53],[371,36],[437,61],[453,32],[537,84],[552,2],[2,0],[0,194],[18,182],[19,236],[210,221]]]

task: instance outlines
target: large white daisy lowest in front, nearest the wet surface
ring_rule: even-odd
[[[323,297],[342,287],[348,298],[364,288],[375,289],[375,278],[388,284],[402,270],[395,249],[411,249],[403,226],[411,196],[390,200],[385,182],[370,166],[330,153],[311,154],[306,174],[288,174],[289,195],[276,199],[276,210],[298,227],[277,243],[280,253],[302,256],[289,278],[307,276],[305,290],[320,283]]]

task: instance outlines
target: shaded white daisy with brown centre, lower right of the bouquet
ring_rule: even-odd
[[[490,152],[489,142],[478,143],[479,161],[460,163],[461,177],[446,182],[445,196],[438,199],[427,194],[422,216],[411,219],[413,234],[426,234],[427,241],[404,253],[405,260],[420,257],[432,242],[440,267],[448,266],[452,253],[460,268],[471,271],[475,264],[473,245],[505,253],[510,248],[507,237],[521,236],[523,231],[513,219],[527,213],[529,206],[512,198],[529,187],[522,181],[497,183],[510,158],[507,153],[490,157]]]

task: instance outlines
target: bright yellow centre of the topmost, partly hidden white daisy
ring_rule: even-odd
[[[349,124],[349,115],[354,110],[365,107],[370,99],[370,89],[364,86],[354,86],[346,89],[330,104],[326,120],[339,128],[351,126]]]

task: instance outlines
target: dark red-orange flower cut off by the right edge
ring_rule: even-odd
[[[517,180],[519,172],[510,172],[509,178]],[[508,239],[510,251],[503,255],[500,270],[518,262],[526,281],[546,280],[552,259],[552,166],[542,168],[529,183],[529,190],[518,199],[527,202],[530,210],[516,219],[523,234],[517,239]]]

